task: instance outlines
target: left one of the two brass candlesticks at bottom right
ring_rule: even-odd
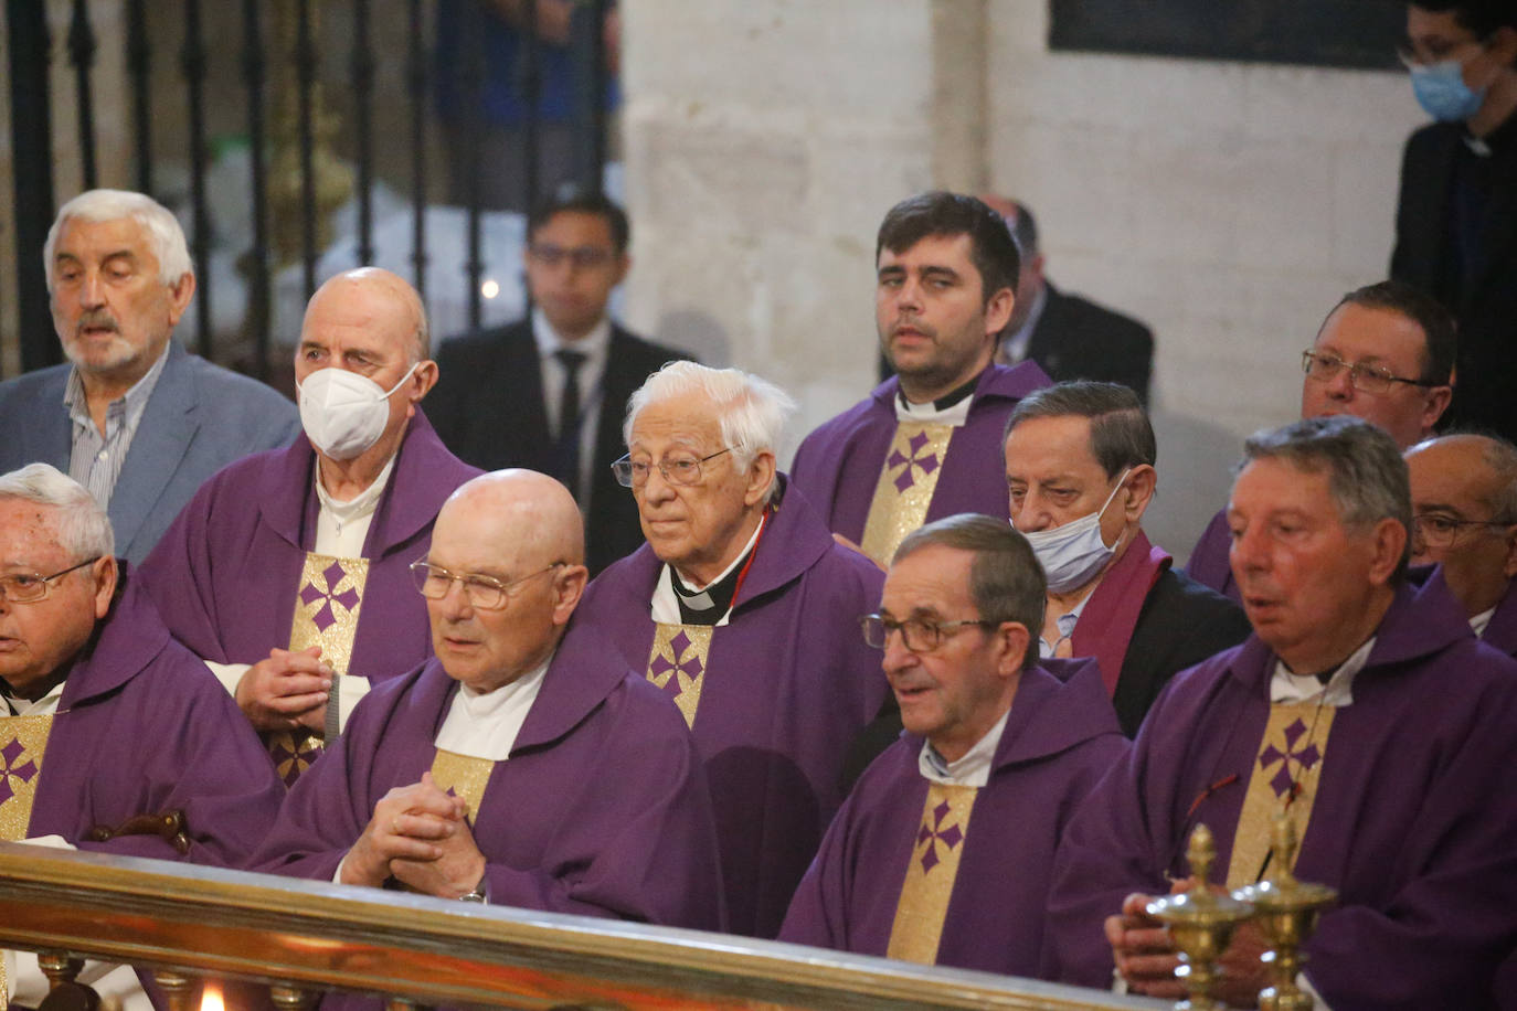
[[[1180,967],[1174,975],[1185,984],[1191,999],[1174,1006],[1189,1011],[1215,1011],[1224,1005],[1212,999],[1218,972],[1214,964],[1227,950],[1232,932],[1253,916],[1253,906],[1227,894],[1214,894],[1206,879],[1217,858],[1212,832],[1197,825],[1191,832],[1191,844],[1185,859],[1191,865],[1189,891],[1165,896],[1148,903],[1148,916],[1162,922],[1170,931],[1170,940],[1180,952]]]

